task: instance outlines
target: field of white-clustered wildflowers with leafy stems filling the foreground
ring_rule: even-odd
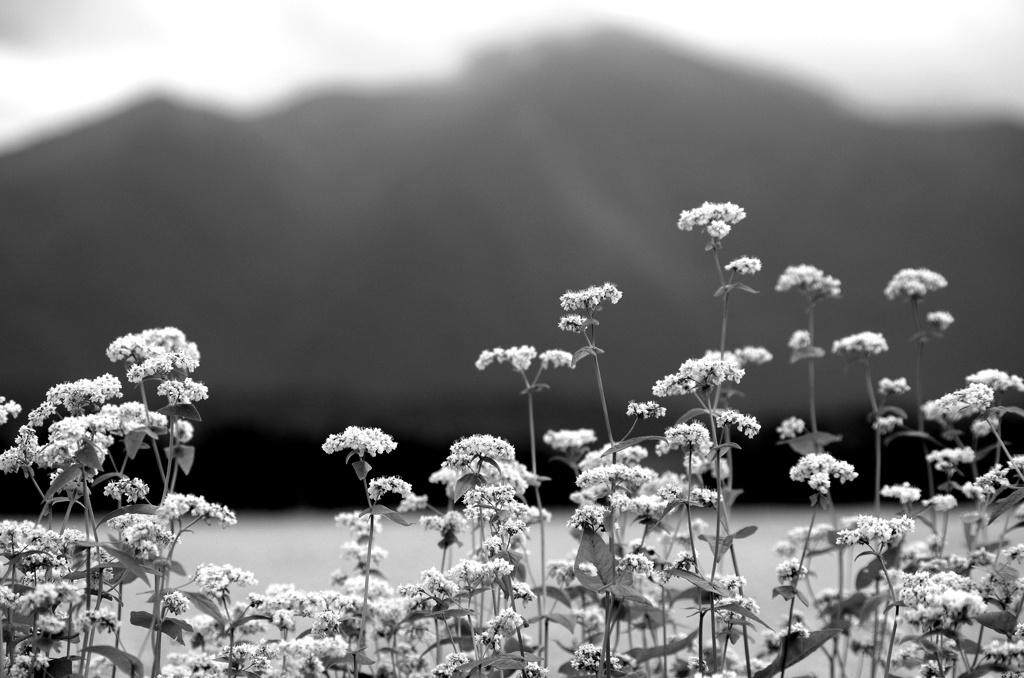
[[[628,332],[611,309],[628,298],[604,283],[559,300],[564,314],[552,323],[574,351],[480,353],[478,370],[511,368],[529,450],[483,433],[454,441],[430,476],[446,505],[430,506],[396,473],[400,441],[385,431],[352,425],[330,435],[323,451],[339,472],[351,467],[366,508],[335,516],[350,565],[328,589],[227,564],[230,540],[212,533],[236,514],[216,497],[176,492],[202,454],[189,444],[208,397],[191,376],[199,349],[174,328],[115,339],[106,355],[124,376],[53,386],[0,455],[0,482],[31,483],[40,499],[17,511],[38,518],[0,522],[0,675],[1020,676],[1024,456],[1011,454],[1004,420],[1024,417],[1012,402],[1024,381],[982,370],[924,399],[927,346],[953,323],[926,308],[943,276],[905,268],[880,290],[879,303],[907,307],[916,351],[904,377],[872,375],[871,357],[889,348],[879,333],[818,346],[827,343],[815,336],[815,309],[841,283],[807,264],[781,272],[774,289],[798,293],[807,313],[787,356],[806,371],[807,409],[774,434],[791,465],[785,492],[807,506],[786,511],[794,524],[783,528],[736,506],[743,441],[770,435],[734,409],[737,385],[773,358],[758,346],[728,348],[730,298],[761,287],[741,282],[757,280],[759,259],[722,263],[745,216],[730,203],[680,216],[682,238],[709,238],[721,335],[651,385],[657,399],[605,397],[601,364],[615,356],[598,335]],[[824,358],[863,376],[868,468],[829,454],[842,432],[818,427],[814,369]],[[535,430],[535,395],[557,369],[593,369],[598,430]],[[905,394],[912,411],[890,401]],[[22,411],[0,398],[0,423]],[[647,419],[664,419],[664,433],[634,436]],[[899,438],[915,448],[926,486],[882,485],[883,452]],[[566,498],[545,494],[541,454],[575,475],[577,508],[557,519],[545,502]],[[674,460],[671,470],[652,470],[652,455]],[[151,486],[139,476],[154,468]],[[852,515],[831,496],[851,482],[873,495]],[[318,568],[288,544],[267,533],[257,548]],[[382,544],[397,554],[393,566]],[[328,573],[303,569],[293,581],[326,584]]]

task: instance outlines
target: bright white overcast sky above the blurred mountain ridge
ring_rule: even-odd
[[[451,76],[481,45],[621,26],[885,115],[1024,122],[1022,0],[0,0],[0,151],[154,91],[255,112]]]

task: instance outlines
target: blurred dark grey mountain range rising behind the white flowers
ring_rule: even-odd
[[[731,298],[728,344],[775,353],[739,404],[771,438],[807,408],[785,346],[803,301],[773,291],[790,264],[843,281],[817,309],[821,345],[889,338],[876,379],[912,377],[910,309],[882,294],[903,267],[945,274],[924,308],[956,317],[925,351],[926,397],[982,368],[1022,371],[1022,185],[1020,126],[864,119],[610,31],[257,118],[154,98],[0,158],[0,383],[34,407],[53,383],[113,371],[117,336],[174,325],[203,353],[206,427],[521,436],[521,384],[474,361],[578,348],[556,328],[558,297],[610,281],[625,296],[601,311],[599,343],[623,434],[628,399],[717,346],[707,237],[676,220],[730,201],[748,218],[723,263],[758,256],[764,270],[743,281],[760,294]],[[828,356],[818,378],[823,425],[867,411],[859,367]],[[541,431],[602,428],[589,359],[545,381]]]

